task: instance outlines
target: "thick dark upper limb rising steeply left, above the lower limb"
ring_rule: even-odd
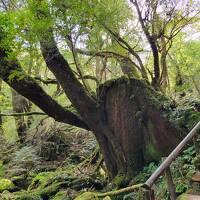
[[[49,10],[41,10],[40,1],[37,1],[35,17],[39,20],[51,18]],[[42,14],[41,14],[42,13]],[[75,77],[67,60],[60,53],[53,36],[53,28],[49,27],[39,35],[43,58],[49,70],[54,74],[62,86],[66,96],[72,102],[78,113],[91,127],[98,123],[97,113],[102,112],[97,101],[93,99]]]

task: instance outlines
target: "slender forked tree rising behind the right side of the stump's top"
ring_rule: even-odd
[[[183,28],[198,20],[198,8],[189,1],[134,1],[143,33],[153,55],[154,87],[165,88],[168,84],[167,55],[177,34]]]

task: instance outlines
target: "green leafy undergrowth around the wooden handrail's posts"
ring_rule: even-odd
[[[189,181],[194,175],[195,162],[197,162],[196,151],[194,145],[185,149],[180,156],[171,164],[170,171],[172,174],[173,182],[175,184],[176,193],[180,195],[190,188]],[[143,168],[143,170],[134,178],[134,183],[144,183],[148,177],[158,168],[160,163],[151,162]],[[160,176],[156,184],[153,186],[156,200],[168,200],[169,193],[167,190],[166,179],[164,175]],[[127,196],[125,196],[127,197]],[[128,195],[129,200],[135,200],[135,194]]]

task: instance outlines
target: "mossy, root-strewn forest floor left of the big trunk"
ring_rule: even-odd
[[[74,199],[106,184],[93,135],[42,120],[23,145],[1,141],[0,199]]]

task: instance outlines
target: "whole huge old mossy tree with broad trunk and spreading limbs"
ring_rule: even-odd
[[[68,7],[65,3],[55,2],[60,15],[64,11],[70,10],[70,5]],[[147,13],[149,15],[154,13],[154,16],[149,16],[149,25],[142,17],[143,13],[140,12],[137,1],[131,1],[131,3],[136,6],[144,36],[149,41],[153,52],[154,73],[149,75],[152,76],[152,81],[148,78],[147,70],[141,58],[120,37],[119,30],[117,28],[112,30],[103,22],[101,22],[101,25],[106,33],[112,37],[112,43],[117,42],[128,53],[120,55],[118,52],[113,51],[93,52],[76,49],[72,36],[63,34],[63,30],[60,35],[63,34],[62,36],[65,38],[69,49],[73,52],[77,71],[80,75],[78,77],[67,58],[59,50],[59,36],[58,32],[55,32],[56,15],[51,16],[50,13],[53,11],[49,9],[50,5],[47,4],[47,1],[28,1],[28,8],[26,9],[32,14],[32,27],[36,26],[37,23],[42,24],[33,33],[37,35],[36,42],[40,45],[43,59],[48,69],[55,76],[55,81],[62,87],[66,97],[76,109],[76,113],[58,104],[44,91],[36,79],[25,72],[16,56],[14,42],[11,42],[16,41],[18,38],[15,38],[15,35],[13,36],[7,28],[11,24],[9,17],[6,16],[8,11],[1,14],[0,22],[0,77],[55,120],[92,131],[104,156],[111,179],[118,175],[129,178],[140,170],[146,162],[168,154],[180,140],[182,132],[181,128],[171,118],[174,104],[156,90],[162,90],[162,85],[166,85],[167,51],[171,47],[172,38],[185,26],[186,20],[183,20],[184,23],[182,22],[180,27],[177,24],[174,25],[172,27],[174,32],[171,31],[171,35],[167,36],[168,33],[164,25],[170,23],[174,16],[171,16],[166,22],[162,21],[164,18],[160,19],[156,15],[156,4],[154,2],[149,5],[152,12]],[[7,9],[15,8],[11,6]],[[173,8],[171,8],[172,11]],[[59,14],[56,17],[59,17]],[[96,18],[98,16],[94,15],[94,19]],[[158,29],[159,23],[163,25],[162,29]],[[62,26],[61,23],[57,25]],[[23,31],[30,32],[30,27],[28,25],[27,27]],[[163,47],[160,47],[160,45],[163,45]],[[131,78],[126,76],[110,80],[100,86],[97,84],[97,92],[94,94],[88,89],[87,82],[80,70],[80,63],[77,62],[79,53],[87,56],[97,55],[98,58],[104,61],[105,58],[114,57],[121,64],[121,67],[124,63],[132,65],[140,75],[138,77],[133,73]],[[125,56],[128,54],[131,54],[131,56]],[[159,57],[161,57],[161,65],[159,64]],[[102,75],[100,77],[102,78]],[[98,79],[101,78],[93,79],[98,82]]]

